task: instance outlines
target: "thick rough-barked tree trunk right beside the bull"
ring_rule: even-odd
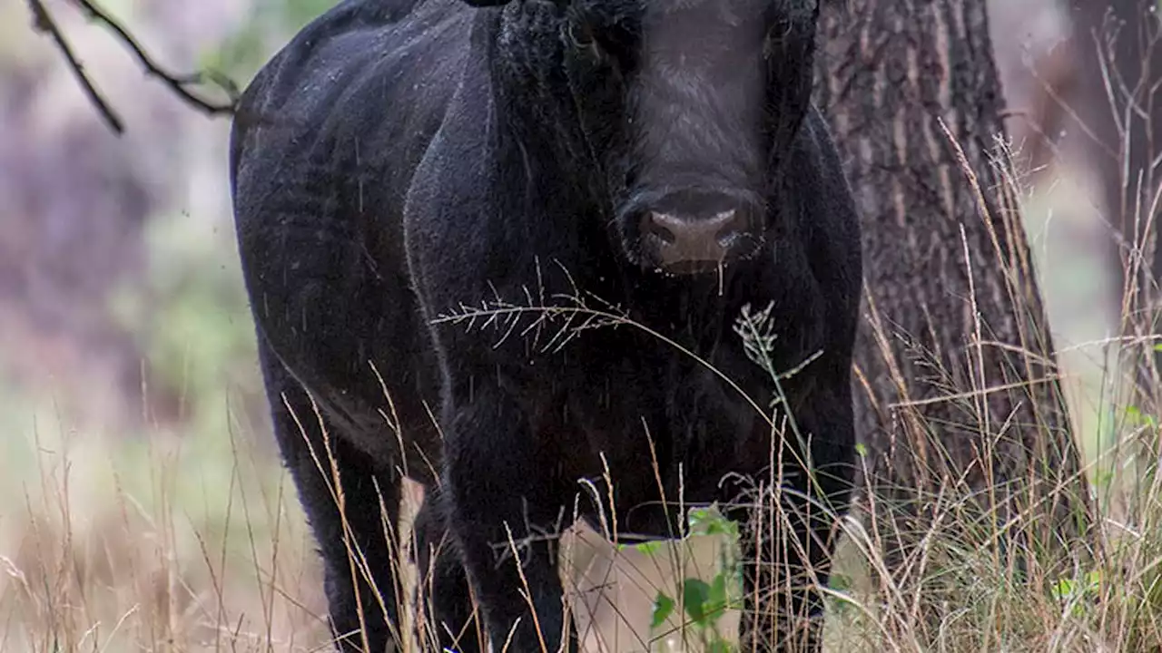
[[[992,156],[1003,100],[985,1],[841,5],[825,10],[818,98],[863,220],[873,532],[897,572],[937,524],[1034,562],[1076,543],[1088,486],[1017,191]]]

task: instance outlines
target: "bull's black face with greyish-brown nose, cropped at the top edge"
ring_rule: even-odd
[[[670,274],[753,256],[777,231],[765,199],[806,112],[817,0],[562,9],[566,74],[625,256]]]

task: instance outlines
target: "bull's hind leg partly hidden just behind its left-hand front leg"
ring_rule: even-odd
[[[418,609],[430,617],[422,646],[440,651],[479,653],[480,625],[474,619],[468,576],[442,512],[436,488],[428,488],[415,522],[416,590]]]

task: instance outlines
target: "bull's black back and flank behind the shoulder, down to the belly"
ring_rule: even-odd
[[[458,84],[469,21],[458,0],[343,2],[259,72],[231,134],[259,346],[381,459],[395,442],[379,372],[411,432],[429,422],[421,402],[437,399],[401,214]]]

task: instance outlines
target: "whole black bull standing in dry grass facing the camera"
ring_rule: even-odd
[[[397,644],[383,517],[394,528],[403,476],[428,488],[418,564],[449,647],[471,586],[495,651],[575,650],[552,537],[574,510],[668,537],[680,489],[741,505],[748,486],[729,479],[775,473],[774,529],[762,510],[729,512],[746,596],[766,596],[751,590],[774,568],[801,587],[763,608],[819,613],[808,581],[827,580],[851,491],[861,259],[810,102],[818,10],[349,0],[248,88],[230,159],[239,251],[343,646]],[[586,303],[637,326],[575,330]],[[775,378],[733,330],[747,306],[772,309],[770,369],[802,367],[776,406],[799,437],[763,412]],[[446,320],[471,311],[485,315]],[[744,633],[789,647],[798,622],[755,608]]]

